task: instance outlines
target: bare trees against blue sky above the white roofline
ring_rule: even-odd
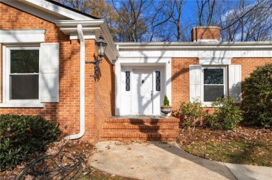
[[[189,41],[192,26],[220,26],[222,41],[272,39],[272,1],[196,0],[186,17],[186,0],[54,0],[105,19],[114,41]]]

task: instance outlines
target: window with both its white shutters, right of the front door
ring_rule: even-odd
[[[241,65],[190,65],[189,76],[191,102],[211,106],[218,97],[228,95],[241,102]]]

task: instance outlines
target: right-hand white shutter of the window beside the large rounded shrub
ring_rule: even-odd
[[[229,96],[241,103],[241,65],[229,65]]]

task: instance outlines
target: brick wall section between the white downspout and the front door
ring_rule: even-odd
[[[92,51],[96,49],[94,41]],[[97,54],[96,54],[97,55]],[[92,54],[88,60],[95,60],[97,57]],[[98,78],[89,76],[93,74],[93,65],[86,65],[86,136],[84,139],[91,142],[100,140],[105,119],[114,115],[114,79],[113,65],[107,58],[100,63]]]

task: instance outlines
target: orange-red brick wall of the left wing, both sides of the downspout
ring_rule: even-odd
[[[68,35],[52,22],[35,17],[16,8],[0,3],[1,29],[45,28],[45,42],[59,42],[59,103],[45,103],[45,108],[0,108],[1,114],[42,115],[47,120],[60,124],[63,133],[78,133],[80,126],[80,42],[70,40]],[[86,60],[95,59],[94,40],[86,40]],[[3,62],[1,47],[1,62]],[[3,72],[3,63],[1,72]],[[103,120],[113,115],[114,99],[113,67],[104,59],[100,64],[100,79],[93,79],[93,65],[86,67],[86,133],[84,139],[90,142],[99,140]],[[1,98],[3,97],[3,74],[1,78]],[[100,103],[95,104],[95,101]],[[3,101],[3,99],[1,99]],[[67,125],[67,129],[64,126]]]

